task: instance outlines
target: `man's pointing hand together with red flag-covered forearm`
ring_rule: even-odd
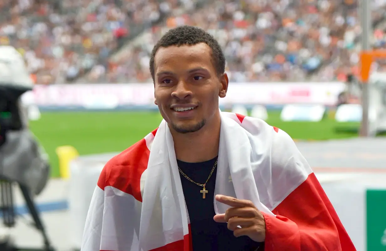
[[[249,200],[216,195],[230,208],[213,219],[228,223],[236,237],[265,241],[266,251],[356,250],[327,196],[315,184],[318,181],[311,174],[273,210],[276,215],[260,212]]]

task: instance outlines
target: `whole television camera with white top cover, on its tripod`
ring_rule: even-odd
[[[20,98],[32,88],[20,53],[12,46],[0,46],[0,214],[3,226],[15,226],[14,189],[18,186],[44,240],[43,248],[21,248],[7,236],[0,242],[2,251],[54,250],[34,203],[34,196],[47,184],[50,166],[47,154],[28,128],[26,107]]]

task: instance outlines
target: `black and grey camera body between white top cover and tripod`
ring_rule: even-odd
[[[24,90],[0,86],[0,176],[39,194],[50,174],[47,154],[28,128]]]

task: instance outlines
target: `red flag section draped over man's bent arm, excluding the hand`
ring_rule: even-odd
[[[263,214],[266,251],[356,250],[313,173],[273,213]]]

